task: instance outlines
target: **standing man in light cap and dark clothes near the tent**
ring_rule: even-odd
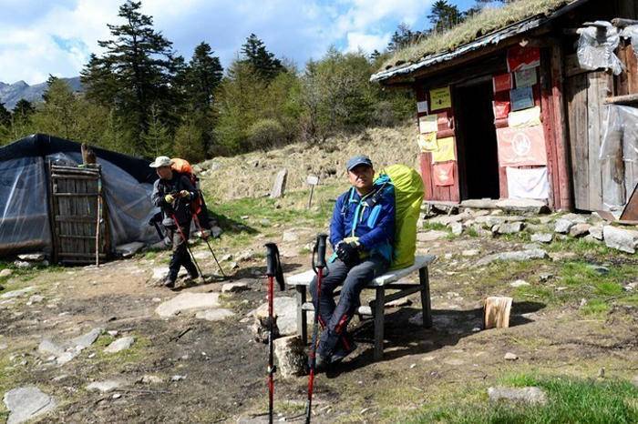
[[[189,272],[189,277],[199,277],[195,264],[190,259],[188,240],[190,235],[190,202],[198,196],[195,187],[192,187],[188,177],[174,172],[170,168],[171,160],[167,156],[158,156],[149,167],[157,170],[160,179],[153,185],[151,201],[156,207],[160,207],[162,213],[162,225],[169,230],[169,237],[173,245],[173,256],[170,257],[169,275],[164,279],[164,286],[175,287],[180,267]],[[177,226],[181,227],[181,231]]]

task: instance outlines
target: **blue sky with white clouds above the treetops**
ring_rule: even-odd
[[[406,22],[427,27],[434,0],[143,0],[155,28],[187,59],[206,41],[222,65],[245,38],[258,35],[279,57],[303,66],[330,45],[342,51],[383,49]],[[107,24],[118,22],[118,0],[0,0],[0,81],[41,83],[49,74],[77,76]],[[452,3],[465,10],[474,0]]]

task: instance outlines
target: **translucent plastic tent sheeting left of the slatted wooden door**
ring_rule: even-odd
[[[0,255],[50,250],[51,229],[42,157],[0,162]]]

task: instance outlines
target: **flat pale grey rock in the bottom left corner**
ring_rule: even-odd
[[[9,390],[4,400],[11,412],[7,424],[26,422],[56,408],[56,400],[35,386]]]

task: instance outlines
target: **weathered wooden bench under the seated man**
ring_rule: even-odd
[[[405,298],[412,293],[421,293],[421,308],[423,308],[423,327],[432,327],[432,309],[430,306],[430,287],[427,267],[436,257],[433,255],[417,256],[413,266],[403,269],[388,271],[386,274],[372,280],[365,288],[376,290],[376,298],[370,302],[369,307],[359,307],[359,315],[372,315],[375,319],[375,360],[383,358],[384,342],[384,308],[387,302],[399,298]],[[398,280],[404,278],[414,271],[418,271],[418,283],[399,283]],[[311,269],[301,274],[295,274],[286,278],[286,284],[294,286],[297,290],[297,331],[304,343],[308,341],[308,319],[309,310],[314,310],[312,302],[306,302],[306,288],[313,281],[314,271]],[[386,296],[386,290],[398,290]],[[338,292],[334,295],[336,296]]]

